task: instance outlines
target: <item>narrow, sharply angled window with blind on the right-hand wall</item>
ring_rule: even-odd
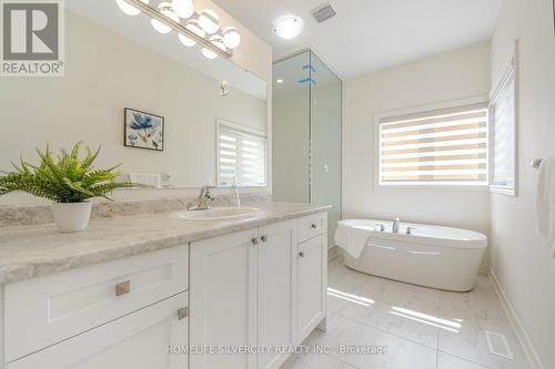
[[[490,106],[490,115],[492,116],[491,189],[508,195],[514,195],[516,192],[515,66],[515,53],[513,50]]]

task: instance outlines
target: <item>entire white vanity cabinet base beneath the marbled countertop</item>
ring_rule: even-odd
[[[8,284],[0,368],[278,369],[325,326],[326,227],[319,213]]]

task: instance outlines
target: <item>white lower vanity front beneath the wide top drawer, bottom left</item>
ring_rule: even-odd
[[[170,347],[188,345],[189,319],[178,316],[186,305],[186,293],[176,295],[10,362],[7,369],[188,368],[188,355],[169,355]]]

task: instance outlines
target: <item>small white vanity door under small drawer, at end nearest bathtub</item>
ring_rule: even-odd
[[[327,235],[299,245],[299,344],[326,315]]]

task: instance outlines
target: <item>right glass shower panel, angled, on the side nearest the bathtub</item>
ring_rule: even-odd
[[[333,205],[327,213],[329,242],[341,221],[342,81],[311,52],[311,186],[313,204]]]

